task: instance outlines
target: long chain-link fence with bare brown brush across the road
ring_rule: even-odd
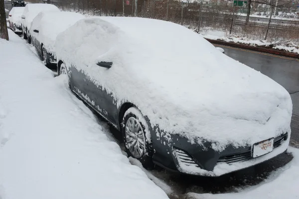
[[[210,38],[230,37],[299,45],[299,0],[29,0],[90,15],[139,16],[182,24]]]

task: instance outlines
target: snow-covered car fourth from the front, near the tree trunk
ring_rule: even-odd
[[[22,33],[21,15],[24,7],[12,7],[8,14],[9,28],[15,33]]]

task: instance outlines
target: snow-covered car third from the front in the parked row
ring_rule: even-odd
[[[21,16],[21,25],[22,25],[22,33],[24,35],[24,39],[28,39],[28,42],[31,43],[30,37],[30,25],[33,18],[41,11],[60,11],[58,7],[52,4],[44,4],[44,3],[30,3],[26,4],[25,9]]]

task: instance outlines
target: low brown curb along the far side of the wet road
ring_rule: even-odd
[[[274,49],[269,49],[269,48],[264,48],[264,47],[244,45],[244,44],[240,44],[240,43],[232,43],[232,42],[221,41],[221,40],[212,40],[212,39],[206,39],[206,40],[209,41],[210,43],[214,43],[214,44],[226,45],[226,46],[231,46],[231,47],[236,47],[236,48],[241,48],[241,49],[265,52],[268,54],[275,54],[275,55],[279,55],[279,56],[299,59],[299,54],[294,53],[294,52],[285,52],[285,51],[281,51],[281,50],[274,50]]]

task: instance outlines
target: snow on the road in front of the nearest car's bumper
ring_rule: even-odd
[[[299,149],[289,148],[294,159],[278,169],[263,183],[239,193],[187,194],[187,199],[297,199],[299,198]]]

